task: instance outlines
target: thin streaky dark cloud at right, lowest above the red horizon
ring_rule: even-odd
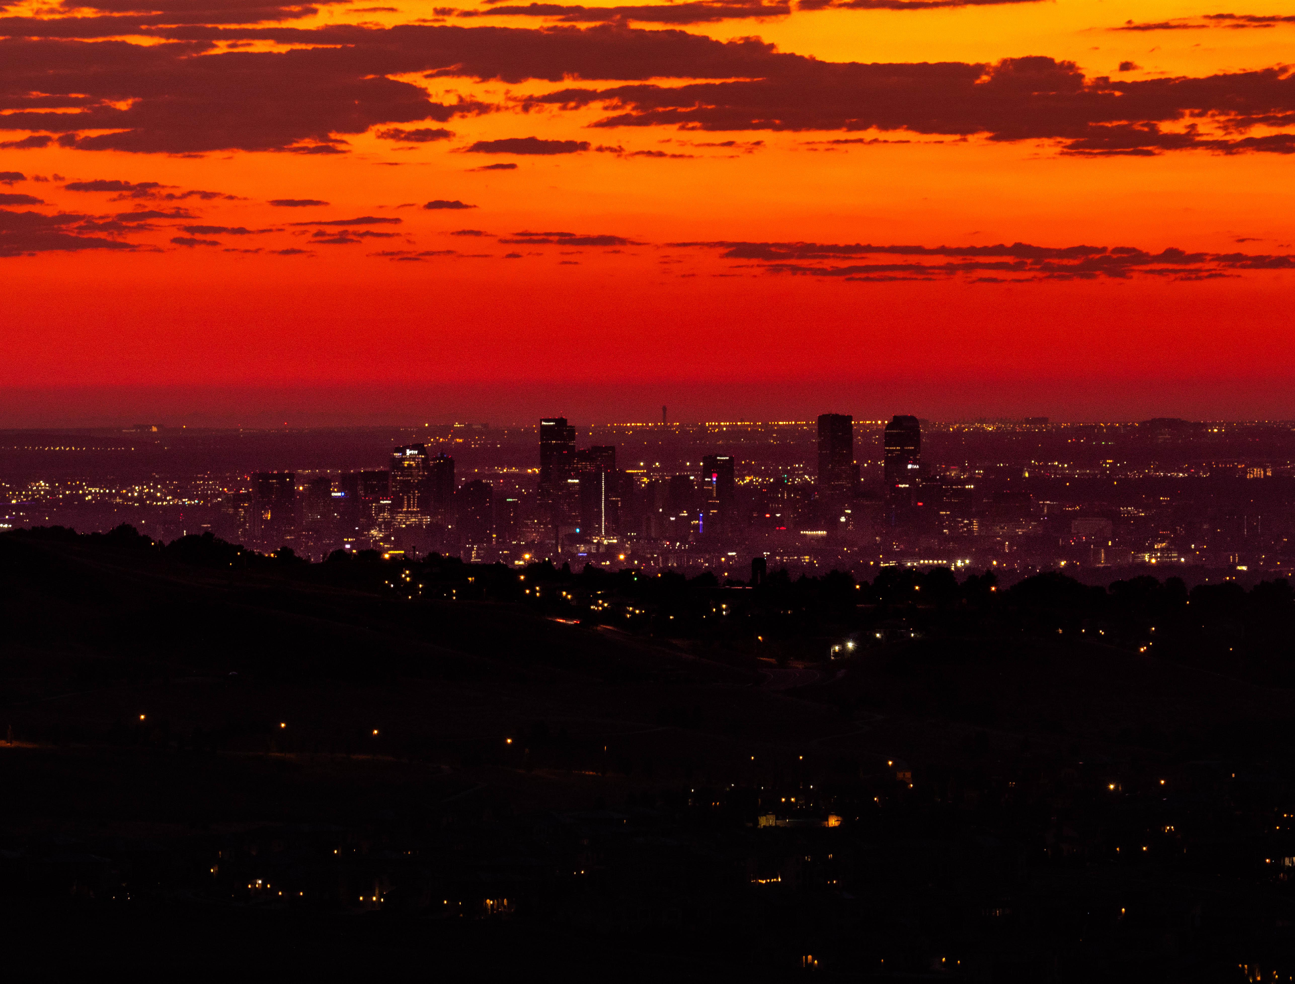
[[[1133,276],[1213,279],[1250,270],[1295,270],[1291,254],[1159,253],[1132,246],[1036,246],[1027,242],[993,246],[918,246],[824,242],[670,242],[675,249],[717,250],[724,259],[765,274],[888,280],[951,279],[974,281],[1127,280]],[[842,261],[861,261],[842,263]]]

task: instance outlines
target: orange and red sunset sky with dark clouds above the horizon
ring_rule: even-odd
[[[0,425],[1295,417],[1290,4],[369,3],[0,6]]]

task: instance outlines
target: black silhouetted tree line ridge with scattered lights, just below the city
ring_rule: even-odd
[[[1116,647],[1246,679],[1295,686],[1295,590],[1285,580],[1250,590],[1235,581],[1188,589],[1177,577],[1143,576],[1107,587],[1045,572],[1011,586],[993,572],[961,581],[948,568],[883,568],[872,582],[850,572],[791,577],[773,570],[759,582],[711,572],[649,574],[544,560],[523,569],[469,564],[431,554],[383,560],[378,551],[335,551],[312,564],[284,548],[263,555],[211,533],[170,543],[122,525],[78,534],[62,526],[4,534],[80,550],[253,572],[370,591],[411,602],[523,604],[540,613],[623,631],[692,640],[720,656],[828,660],[879,648],[956,647],[960,640],[1031,638],[1050,644]],[[835,647],[835,648],[834,648]],[[975,647],[973,647],[975,648]]]

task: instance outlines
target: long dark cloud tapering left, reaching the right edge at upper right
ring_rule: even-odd
[[[1264,69],[1207,78],[1085,78],[1074,62],[1006,58],[996,65],[859,65],[803,61],[772,78],[563,89],[530,100],[613,110],[593,126],[668,124],[689,130],[909,130],[992,140],[1132,141],[1147,153],[1199,148],[1224,153],[1281,150],[1264,137],[1226,140],[1163,134],[1162,122],[1208,118],[1230,130],[1295,126],[1295,75]],[[1137,143],[1141,140],[1141,143]]]

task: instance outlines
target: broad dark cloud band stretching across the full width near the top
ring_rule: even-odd
[[[1226,23],[1250,22],[1229,17]],[[992,140],[1055,140],[1077,154],[1138,156],[1169,149],[1283,152],[1281,140],[1251,139],[1243,131],[1295,127],[1295,79],[1285,67],[1112,80],[1085,76],[1075,64],[1046,57],[993,65],[826,62],[780,53],[755,39],[717,41],[622,23],[540,30],[194,26],[154,34],[174,40],[0,41],[0,127],[60,134],[58,143],[84,150],[341,153],[339,135],[492,109],[470,100],[435,102],[421,86],[388,78],[396,74],[566,82],[561,92],[535,96],[522,108],[601,105],[607,110],[601,127],[979,134]],[[211,48],[214,40],[234,38],[312,47]],[[648,82],[654,78],[692,82]],[[629,84],[571,84],[579,80]],[[1182,130],[1188,123],[1202,130]],[[1210,126],[1225,132],[1211,134],[1204,130]],[[1127,146],[1103,148],[1131,139],[1134,143]],[[521,137],[478,141],[469,149],[548,154],[587,146],[587,141]]]

